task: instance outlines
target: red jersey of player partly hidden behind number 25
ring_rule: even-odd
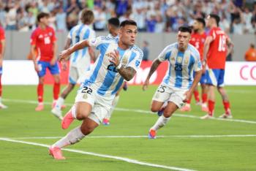
[[[201,61],[203,61],[203,47],[205,42],[206,42],[206,32],[203,32],[203,34],[193,33],[189,41],[191,45],[197,48],[198,52],[200,53]]]

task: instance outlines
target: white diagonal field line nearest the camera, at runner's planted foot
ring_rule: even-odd
[[[12,140],[12,139],[9,139],[9,138],[0,138],[0,140],[1,141],[7,141],[7,142],[22,143],[22,144],[27,144],[27,145],[35,145],[35,146],[40,146],[40,147],[45,147],[45,148],[49,148],[49,146],[50,146],[50,145],[36,143],[36,142],[26,142],[26,141],[20,141],[20,140]],[[185,168],[181,168],[181,167],[170,167],[170,166],[165,166],[165,165],[160,165],[160,164],[151,164],[151,163],[148,163],[148,162],[138,161],[138,160],[135,160],[135,159],[128,159],[128,158],[119,157],[119,156],[110,156],[110,155],[105,155],[105,154],[100,154],[100,153],[92,153],[92,152],[88,152],[88,151],[79,151],[79,150],[73,150],[73,149],[68,149],[68,148],[64,148],[62,150],[73,152],[73,153],[82,153],[82,154],[91,155],[91,156],[98,156],[98,157],[102,157],[102,158],[116,159],[116,160],[126,161],[128,163],[140,164],[140,165],[148,166],[148,167],[164,168],[164,169],[167,169],[167,170],[189,171],[189,169],[185,169]]]

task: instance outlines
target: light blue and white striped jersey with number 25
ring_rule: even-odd
[[[158,56],[159,61],[169,62],[168,70],[162,83],[172,88],[188,89],[192,86],[193,71],[202,69],[200,53],[197,49],[188,45],[185,52],[178,51],[178,43],[165,47]]]

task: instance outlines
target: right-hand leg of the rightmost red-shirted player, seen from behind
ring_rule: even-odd
[[[232,118],[231,110],[230,110],[230,101],[227,96],[227,92],[224,89],[224,76],[225,76],[225,70],[220,70],[219,75],[219,81],[218,81],[218,91],[219,94],[222,96],[222,103],[225,109],[225,113],[223,115],[220,115],[220,118]]]

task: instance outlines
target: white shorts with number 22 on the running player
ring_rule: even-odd
[[[110,112],[114,97],[101,96],[93,88],[90,88],[90,86],[81,86],[75,97],[75,102],[87,102],[91,104],[92,110],[88,118],[100,124],[103,118]]]

